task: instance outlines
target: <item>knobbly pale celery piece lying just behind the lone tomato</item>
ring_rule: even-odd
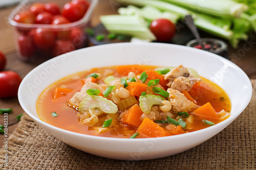
[[[180,14],[174,14],[167,11],[162,12],[152,6],[137,8],[133,5],[129,5],[126,8],[124,7],[119,8],[118,13],[121,15],[139,15],[149,21],[153,21],[158,18],[165,18],[165,19],[169,19],[174,23],[176,23],[177,20],[181,17]]]

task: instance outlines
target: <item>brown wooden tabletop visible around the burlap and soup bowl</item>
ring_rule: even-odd
[[[92,17],[92,25],[96,26],[99,21],[100,15],[116,14],[116,10],[119,4],[114,1],[100,0],[94,15]],[[26,63],[20,61],[17,58],[17,52],[15,50],[15,42],[13,37],[13,29],[8,25],[7,17],[15,7],[9,7],[0,9],[0,51],[5,53],[8,63],[6,70],[12,70],[17,72],[22,78],[24,78],[30,70],[36,67],[36,64]],[[243,41],[240,43],[237,49],[229,47],[229,55],[231,61],[240,66],[248,75],[249,78],[256,78],[256,40]],[[239,80],[238,80],[239,81]],[[1,89],[0,89],[1,90]],[[20,107],[17,98],[0,99],[0,108],[13,108],[13,112],[8,115],[8,135],[18,125],[17,115],[22,114],[24,111]],[[0,125],[3,125],[4,115],[0,115]],[[0,147],[3,145],[4,135],[0,135]]]

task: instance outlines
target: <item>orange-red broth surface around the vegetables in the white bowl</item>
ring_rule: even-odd
[[[155,69],[156,66],[144,66],[144,68]],[[115,66],[101,67],[93,68],[88,71],[78,72],[51,84],[44,91],[42,91],[36,103],[36,109],[40,119],[55,127],[82,134],[118,138],[131,137],[134,133],[136,133],[137,128],[123,125],[120,122],[117,123],[115,128],[109,131],[98,133],[94,127],[80,123],[79,117],[77,116],[78,111],[68,105],[68,102],[74,93],[81,90],[83,86],[81,79],[84,79],[87,75],[90,75],[93,72],[98,72],[102,76],[100,80],[98,80],[98,83],[103,83],[104,78],[108,76],[105,75],[106,70],[113,71],[112,76],[114,77],[123,77],[123,75],[118,75]],[[230,112],[231,104],[227,94],[217,84],[205,78],[202,79],[203,82],[196,83],[189,91],[189,94],[196,100],[197,105],[202,106],[209,102],[212,107],[214,107],[216,112],[220,112],[222,109],[224,109],[226,112]],[[73,89],[73,91],[61,96],[60,98],[54,99],[53,94],[56,87],[69,88]],[[52,112],[56,112],[58,116],[53,117],[51,115]],[[99,120],[100,125],[102,125],[105,119],[104,117],[99,117]],[[214,122],[215,124],[221,122],[221,120],[210,121]],[[209,127],[208,125],[204,124],[202,119],[196,115],[195,122],[196,123],[194,123],[189,128],[189,130],[187,130],[188,132]]]

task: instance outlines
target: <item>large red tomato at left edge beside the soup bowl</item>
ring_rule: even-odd
[[[18,87],[22,78],[13,71],[0,72],[0,98],[14,97],[18,93]]]

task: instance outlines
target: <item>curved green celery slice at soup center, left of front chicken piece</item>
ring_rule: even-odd
[[[141,95],[139,98],[140,108],[143,113],[150,114],[151,107],[154,105],[158,105],[158,106],[162,105],[162,101],[164,100],[165,99],[160,95],[154,95],[154,94]]]

